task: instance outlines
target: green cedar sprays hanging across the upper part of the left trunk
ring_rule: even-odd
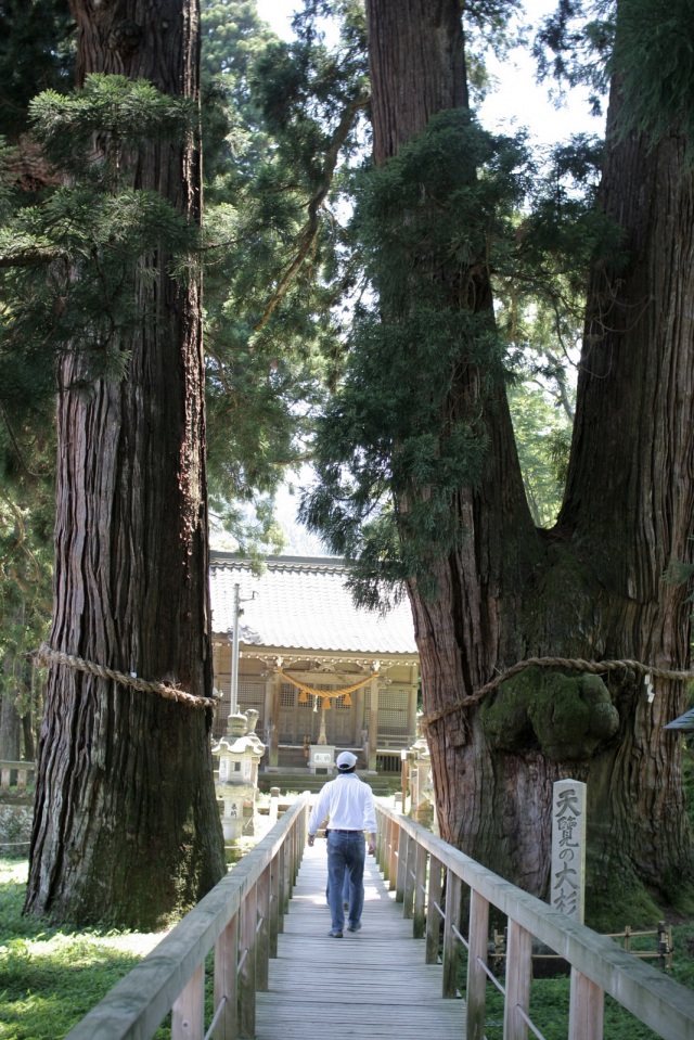
[[[142,313],[136,292],[138,280],[155,277],[147,259],[163,249],[184,266],[197,246],[196,229],[156,192],[128,183],[123,163],[124,150],[138,140],[182,133],[184,105],[149,84],[91,76],[68,97],[40,95],[31,111],[47,157],[69,180],[0,229],[0,258],[9,269],[0,382],[27,405],[51,393],[64,351],[82,357],[85,387],[121,378],[129,336],[154,318]],[[102,146],[95,152],[97,131]]]

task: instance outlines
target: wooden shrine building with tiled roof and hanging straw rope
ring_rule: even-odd
[[[254,708],[261,771],[331,772],[348,748],[358,769],[400,770],[415,740],[419,657],[407,598],[385,615],[355,606],[338,557],[269,556],[261,574],[210,554],[215,736]],[[236,704],[234,614],[239,609]],[[327,762],[329,768],[322,769]]]

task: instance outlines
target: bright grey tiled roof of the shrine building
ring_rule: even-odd
[[[355,606],[337,557],[270,556],[261,575],[233,553],[211,553],[213,631],[233,630],[240,586],[242,645],[357,654],[416,654],[410,604],[386,615]],[[252,599],[253,593],[255,596]]]

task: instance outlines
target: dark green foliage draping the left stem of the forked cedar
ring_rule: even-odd
[[[451,497],[478,482],[486,432],[450,400],[466,365],[483,390],[503,380],[476,266],[503,251],[520,154],[444,112],[359,182],[355,228],[377,304],[356,310],[349,370],[318,427],[321,486],[301,512],[334,552],[360,558],[363,602],[377,602],[381,578],[425,586],[432,555],[461,537]]]

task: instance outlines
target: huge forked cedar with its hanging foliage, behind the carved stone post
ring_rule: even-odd
[[[692,882],[680,748],[663,729],[684,703],[690,612],[661,577],[691,558],[694,504],[683,124],[659,137],[619,121],[635,99],[617,69],[597,208],[567,221],[571,192],[550,192],[519,227],[526,158],[472,117],[459,4],[367,12],[375,168],[360,233],[377,296],[357,313],[305,514],[358,561],[363,601],[406,583],[442,836],[544,893],[552,782],[586,780],[590,912],[650,916]],[[618,54],[619,16],[616,33]],[[589,283],[566,491],[543,532],[493,293],[548,271],[550,299],[557,275]],[[586,676],[548,662],[488,685],[536,657],[627,663]]]

